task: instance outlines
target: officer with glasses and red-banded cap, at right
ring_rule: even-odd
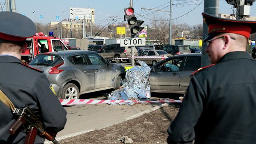
[[[210,62],[192,73],[169,144],[255,144],[256,62],[246,51],[255,21],[203,13]]]

